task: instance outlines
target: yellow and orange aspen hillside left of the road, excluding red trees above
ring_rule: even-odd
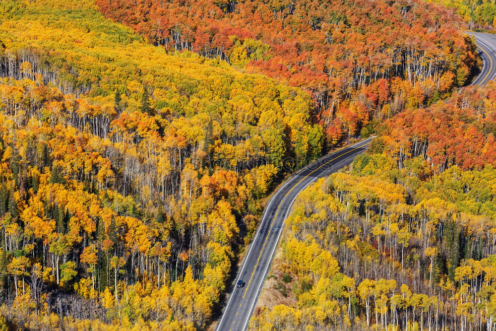
[[[310,96],[168,55],[92,1],[0,2],[0,301],[31,329],[203,329]]]

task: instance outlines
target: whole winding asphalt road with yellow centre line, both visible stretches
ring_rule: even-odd
[[[496,36],[486,33],[473,33],[476,38],[479,54],[483,59],[481,73],[472,85],[483,85],[496,75]],[[284,221],[288,217],[296,197],[316,179],[349,165],[355,156],[363,153],[369,146],[372,137],[348,146],[340,151],[327,154],[320,160],[310,164],[288,179],[269,200],[260,221],[260,225],[241,264],[232,292],[217,331],[244,331],[262,289],[270,267],[272,257],[281,236]],[[245,282],[244,287],[236,287],[239,280]]]

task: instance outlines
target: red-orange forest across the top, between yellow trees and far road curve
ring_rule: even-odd
[[[168,51],[189,50],[310,91],[335,145],[468,82],[475,45],[451,10],[422,0],[97,0]]]

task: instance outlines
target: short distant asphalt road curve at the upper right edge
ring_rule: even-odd
[[[475,37],[477,49],[483,61],[482,70],[471,85],[481,86],[496,76],[496,36],[482,32],[466,33]]]

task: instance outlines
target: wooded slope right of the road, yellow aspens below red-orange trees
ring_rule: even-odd
[[[252,330],[493,330],[495,82],[387,121],[295,200]]]

